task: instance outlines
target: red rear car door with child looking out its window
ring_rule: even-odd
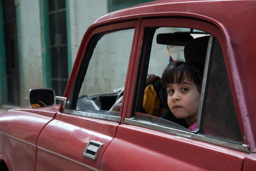
[[[181,61],[186,59],[184,45],[189,40],[180,34],[182,37],[177,40],[188,42],[182,45],[176,43],[179,46],[175,47],[175,40],[168,40],[169,34],[166,33],[190,34],[193,40],[208,37],[203,44],[204,59],[199,59],[200,50],[194,47],[189,52],[192,56],[196,54],[195,59],[199,62],[205,60],[202,61],[204,78],[196,129],[193,131],[160,115],[149,114],[143,105],[147,76],[154,74],[161,77],[164,67],[170,63],[170,57]],[[170,41],[167,48],[160,45],[159,38],[163,36],[158,35],[161,34],[166,35],[163,42]],[[125,118],[104,152],[100,170],[120,170],[121,167],[122,170],[241,170],[249,150],[246,140],[242,138],[243,126],[239,121],[239,106],[232,88],[231,69],[223,39],[218,27],[202,20],[181,17],[142,21],[136,52],[139,62],[128,80],[136,80],[130,85],[129,94],[133,96],[125,98]],[[168,109],[164,105],[162,108]]]

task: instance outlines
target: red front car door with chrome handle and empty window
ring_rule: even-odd
[[[65,91],[68,104],[38,138],[36,170],[98,169],[120,124],[116,99],[126,89],[136,28],[132,20],[88,29]]]

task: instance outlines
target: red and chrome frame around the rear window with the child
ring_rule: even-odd
[[[137,53],[137,57],[139,58],[138,60],[140,61],[140,63],[144,63],[143,61],[145,61],[145,57],[146,55],[143,54],[143,42],[144,42],[144,36],[145,33],[144,31],[146,30],[147,27],[193,27],[193,29],[198,29],[198,30],[202,30],[205,31],[211,35],[214,35],[214,37],[220,42],[220,46],[221,46],[221,51],[223,52],[223,58],[224,58],[224,62],[225,62],[225,67],[227,70],[227,75],[228,75],[228,83],[230,84],[230,91],[232,93],[232,98],[234,100],[234,105],[236,108],[236,114],[237,114],[237,120],[239,123],[239,128],[241,130],[241,136],[244,137],[244,132],[243,132],[243,127],[241,126],[241,120],[239,117],[239,106],[237,104],[237,98],[234,95],[235,94],[235,89],[232,86],[232,75],[230,72],[230,66],[228,64],[228,60],[227,60],[227,52],[225,52],[225,41],[224,41],[224,36],[221,33],[221,30],[216,27],[214,24],[211,24],[210,22],[205,22],[203,20],[198,20],[198,19],[185,19],[184,17],[176,17],[176,18],[162,18],[162,19],[145,19],[142,20],[141,22],[141,31],[140,31],[140,47],[138,47],[138,49],[141,49],[140,52]],[[147,37],[148,38],[148,37]],[[150,45],[151,46],[151,45]],[[211,47],[211,41],[209,41],[209,47]],[[224,47],[224,48],[223,48]],[[147,47],[146,47],[147,48]],[[150,47],[151,48],[151,47]],[[208,48],[207,51],[211,50],[211,48]],[[145,52],[147,53],[147,52]],[[141,54],[141,55],[140,55]],[[208,60],[208,63],[205,62],[205,66],[209,64],[209,57],[210,57],[211,52],[207,52],[207,57],[205,59],[205,61]],[[207,59],[208,58],[208,59]],[[147,117],[144,117],[144,119],[141,119],[141,116],[146,115],[140,112],[136,112],[135,107],[137,107],[137,99],[139,97],[139,87],[140,87],[140,82],[141,82],[141,75],[143,70],[145,70],[144,68],[145,66],[138,63],[138,75],[136,75],[136,85],[134,85],[134,98],[133,98],[133,103],[132,103],[132,107],[131,110],[129,110],[129,113],[126,115],[125,119],[124,119],[124,123],[125,124],[131,124],[134,126],[141,126],[143,128],[148,128],[148,129],[152,129],[152,130],[157,130],[157,131],[163,131],[164,133],[170,133],[172,135],[179,135],[181,137],[186,137],[186,138],[191,138],[191,139],[195,139],[195,140],[200,140],[203,142],[209,142],[211,144],[216,144],[216,145],[221,145],[224,147],[228,147],[230,149],[236,149],[239,151],[244,151],[244,152],[250,152],[248,149],[248,145],[246,145],[246,141],[243,141],[243,144],[234,144],[232,142],[228,142],[225,140],[220,140],[217,138],[212,138],[212,137],[206,137],[204,135],[200,135],[200,134],[195,134],[196,132],[198,132],[199,128],[200,128],[200,118],[197,120],[198,124],[196,127],[195,131],[188,131],[188,130],[182,130],[182,129],[176,129],[174,128],[168,128],[164,125],[161,124],[156,124],[156,123],[152,123],[152,120],[156,119],[154,118],[154,116],[151,115],[147,115]],[[148,66],[147,66],[148,67]],[[205,70],[207,70],[208,68],[205,68]],[[207,72],[208,74],[209,72]],[[205,72],[204,72],[205,74]],[[205,96],[205,93],[202,95]],[[204,98],[200,98],[200,105],[202,105],[202,100],[204,100]],[[202,110],[202,107],[200,107]],[[200,112],[202,113],[202,112]],[[201,117],[198,116],[198,117]],[[148,118],[148,119],[145,119]]]

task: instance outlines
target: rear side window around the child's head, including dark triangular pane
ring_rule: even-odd
[[[191,133],[190,137],[200,135],[243,144],[218,40],[206,31],[186,27],[145,27],[144,34],[134,112],[125,123],[137,125],[132,122],[136,121],[145,128],[167,133],[175,134],[175,130],[182,130]],[[209,43],[210,38],[214,43]],[[168,93],[161,76],[164,68],[173,61],[200,63],[204,67],[194,124],[189,124],[186,117],[175,117],[168,105]]]

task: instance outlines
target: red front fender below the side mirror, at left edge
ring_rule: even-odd
[[[9,110],[1,114],[0,139],[1,158],[13,170],[35,169],[36,142],[38,135],[56,114],[58,107],[31,110],[31,108]],[[35,119],[36,118],[36,119]],[[3,155],[3,156],[2,156]],[[26,160],[20,160],[20,159]]]

